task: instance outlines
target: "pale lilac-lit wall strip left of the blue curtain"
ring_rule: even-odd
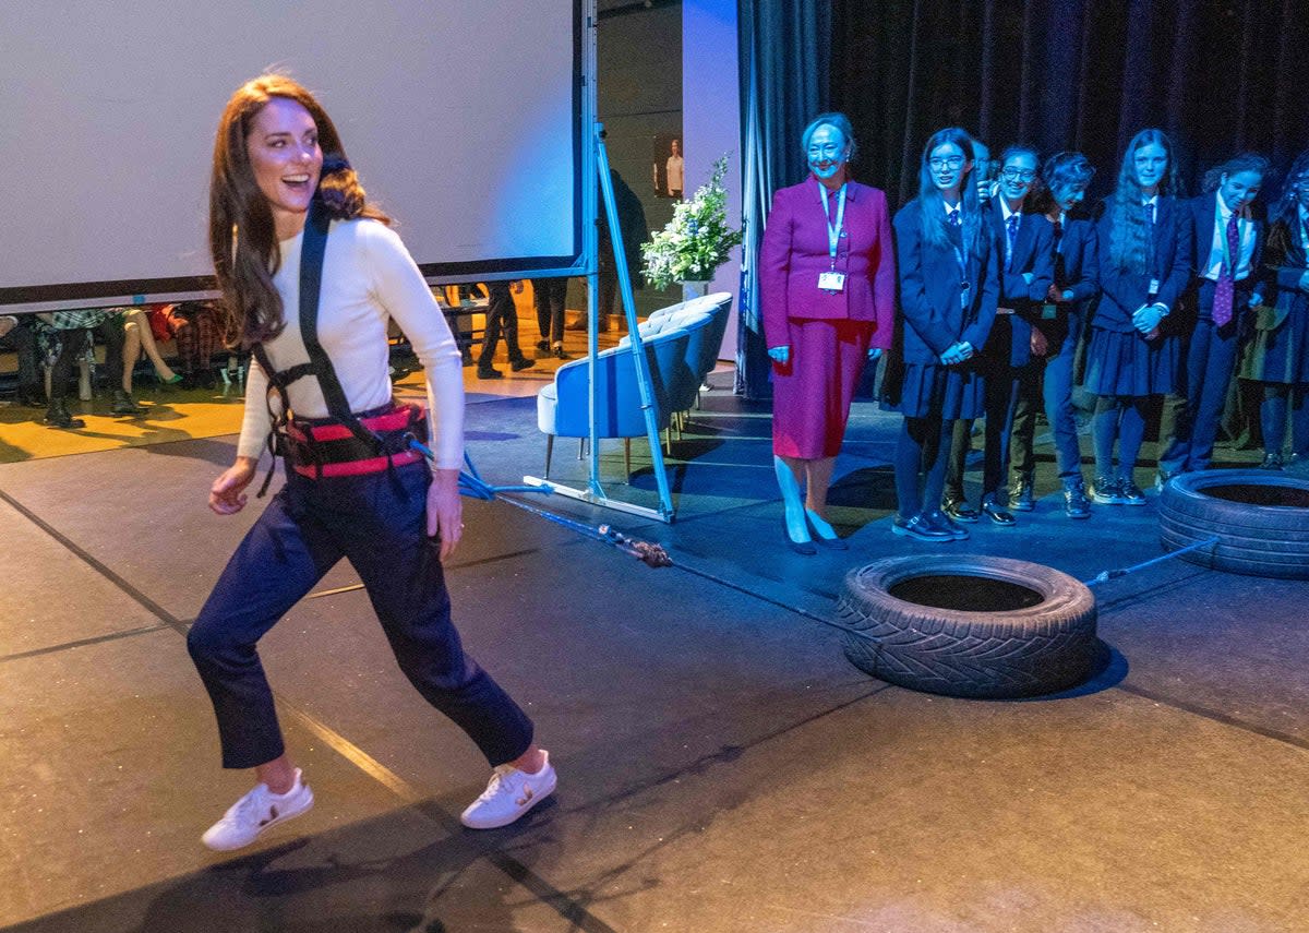
[[[708,181],[713,160],[730,153],[726,178],[728,216],[741,225],[741,92],[737,76],[737,0],[682,1],[682,142],[686,197]],[[741,250],[713,276],[711,292],[737,295]],[[719,356],[736,358],[737,308]]]

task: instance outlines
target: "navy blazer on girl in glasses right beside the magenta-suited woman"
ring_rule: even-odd
[[[936,207],[936,204],[933,204]],[[954,250],[923,242],[923,207],[915,198],[895,214],[895,265],[906,363],[941,364],[958,341],[974,350],[986,345],[1000,294],[1000,262],[994,237],[983,227],[979,256],[967,257],[969,305],[959,303],[959,263]]]

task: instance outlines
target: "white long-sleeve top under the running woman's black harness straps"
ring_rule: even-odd
[[[300,233],[279,244],[281,266],[272,276],[287,326],[264,343],[264,350],[279,371],[309,362],[300,334],[302,240]],[[391,400],[389,318],[408,337],[425,370],[433,466],[458,469],[463,465],[463,372],[440,305],[390,227],[377,220],[332,221],[318,297],[318,342],[336,370],[351,411],[368,411]],[[238,456],[258,457],[264,449],[271,430],[264,401],[267,387],[267,375],[251,359]],[[297,379],[287,394],[292,411],[301,418],[330,414],[313,376]]]

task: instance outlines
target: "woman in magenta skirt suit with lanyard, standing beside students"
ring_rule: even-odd
[[[825,515],[827,486],[864,363],[891,345],[895,254],[886,195],[850,180],[850,121],[817,117],[801,148],[810,176],[772,198],[759,295],[785,537],[793,550],[814,554],[816,541],[846,546]]]

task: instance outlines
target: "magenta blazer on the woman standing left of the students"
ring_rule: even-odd
[[[836,199],[829,195],[833,216]],[[846,191],[846,236],[836,246],[836,270],[846,273],[846,290],[818,290],[818,275],[831,266],[827,224],[810,176],[778,189],[759,249],[759,299],[767,346],[785,346],[789,318],[874,321],[869,346],[889,350],[895,320],[895,248],[886,194],[850,182]]]

